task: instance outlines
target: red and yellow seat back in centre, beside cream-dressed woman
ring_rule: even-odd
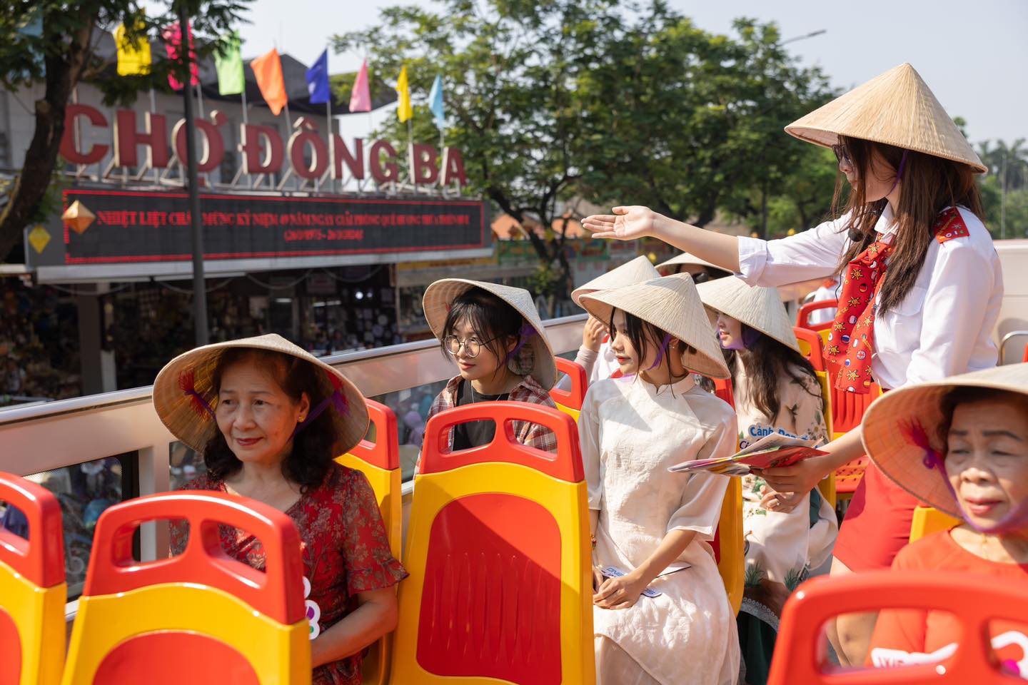
[[[449,429],[495,421],[488,445],[449,451]],[[556,433],[515,442],[512,421]],[[595,681],[588,495],[566,414],[479,403],[429,420],[400,583],[394,683],[590,685]]]

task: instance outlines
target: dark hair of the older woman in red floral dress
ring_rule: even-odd
[[[331,391],[322,378],[322,371],[308,361],[273,350],[232,347],[222,353],[215,367],[215,397],[221,391],[221,378],[225,370],[242,363],[269,370],[279,387],[293,402],[300,402],[306,392],[310,407],[316,407]],[[322,412],[303,430],[296,433],[293,437],[293,450],[282,462],[282,474],[300,486],[301,493],[318,488],[325,481],[333,459],[339,456],[332,454],[332,446],[338,440],[332,411],[329,408]],[[208,474],[215,481],[224,481],[243,467],[243,462],[232,454],[219,429],[215,429],[214,435],[204,448],[204,463]]]

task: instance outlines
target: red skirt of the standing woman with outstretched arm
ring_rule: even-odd
[[[870,462],[839,529],[835,558],[853,572],[889,568],[910,541],[917,504],[916,497]]]

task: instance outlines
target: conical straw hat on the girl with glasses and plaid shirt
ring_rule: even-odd
[[[536,382],[549,390],[557,381],[557,363],[553,356],[553,348],[550,341],[546,339],[546,330],[543,320],[536,309],[536,303],[531,300],[531,295],[523,288],[511,288],[510,286],[498,286],[497,283],[486,283],[479,280],[468,280],[466,278],[442,278],[428,287],[425,291],[425,298],[421,306],[425,309],[425,318],[429,321],[429,328],[436,338],[442,340],[443,326],[446,324],[446,314],[449,313],[450,305],[458,296],[467,293],[472,288],[481,288],[487,293],[492,293],[498,298],[514,307],[525,322],[536,330],[536,335],[529,338],[528,342],[521,348],[521,358],[525,360],[522,366],[527,366],[528,372]],[[530,359],[527,358],[530,356]]]

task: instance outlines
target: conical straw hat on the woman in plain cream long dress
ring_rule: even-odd
[[[710,378],[731,376],[718,336],[688,273],[583,295],[582,306],[603,322],[611,320],[615,309],[634,314],[696,348],[695,354],[683,356],[686,369]]]

